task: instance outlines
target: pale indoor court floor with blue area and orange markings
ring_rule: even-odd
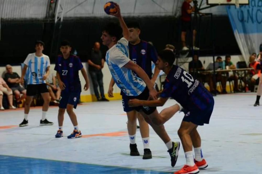
[[[255,93],[218,95],[209,125],[199,127],[203,155],[209,166],[200,173],[262,173],[262,106],[254,107]],[[168,100],[165,107],[174,103]],[[163,107],[159,107],[161,111]],[[131,157],[127,118],[122,101],[93,102],[78,105],[75,110],[83,137],[55,138],[57,107],[48,111],[52,126],[39,126],[41,108],[32,108],[29,125],[18,127],[23,109],[0,112],[0,173],[172,173],[185,164],[180,148],[177,164],[170,165],[165,144],[150,128],[153,158]],[[177,113],[165,124],[173,141],[179,141],[177,130],[183,118]],[[72,124],[67,114],[64,135]],[[143,154],[139,129],[137,145]]]

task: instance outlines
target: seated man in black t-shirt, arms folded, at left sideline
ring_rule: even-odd
[[[26,89],[20,85],[21,78],[17,73],[13,72],[13,68],[9,64],[6,65],[6,74],[4,75],[4,80],[12,89],[12,92],[15,95],[15,100],[17,100],[17,102],[26,98]]]

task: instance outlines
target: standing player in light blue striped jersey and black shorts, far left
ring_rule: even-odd
[[[46,78],[49,75],[50,59],[48,56],[44,55],[42,52],[44,50],[45,44],[42,41],[36,41],[35,43],[35,53],[29,54],[25,61],[24,67],[21,75],[21,85],[24,84],[24,75],[26,69],[28,68],[28,81],[26,87],[26,99],[25,99],[25,110],[24,110],[24,120],[19,124],[20,127],[28,125],[28,113],[30,110],[30,105],[34,95],[41,93],[44,104],[42,107],[42,118],[40,120],[40,125],[53,125],[54,123],[49,122],[46,119],[46,112],[49,107],[49,92],[46,86]]]

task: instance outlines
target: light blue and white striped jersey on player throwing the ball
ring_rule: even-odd
[[[125,38],[121,38],[106,52],[106,62],[117,86],[128,96],[138,96],[146,84],[132,70],[124,67],[129,61],[128,40]]]

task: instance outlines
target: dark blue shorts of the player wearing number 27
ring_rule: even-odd
[[[77,108],[78,100],[80,98],[80,91],[78,92],[62,92],[59,100],[59,108],[66,109],[67,104],[74,105]]]

